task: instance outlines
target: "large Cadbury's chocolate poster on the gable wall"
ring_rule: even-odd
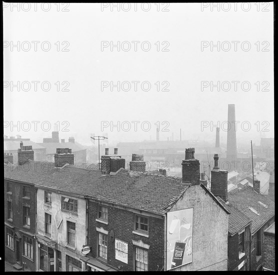
[[[167,213],[167,270],[192,262],[193,208]]]

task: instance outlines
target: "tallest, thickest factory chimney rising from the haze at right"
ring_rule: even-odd
[[[227,159],[236,159],[235,106],[228,104]]]

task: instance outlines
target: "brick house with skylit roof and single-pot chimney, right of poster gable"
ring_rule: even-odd
[[[274,222],[274,202],[254,188],[245,186],[227,191],[227,171],[218,167],[214,154],[211,192],[230,212],[228,225],[228,270],[262,270],[264,259],[263,231]]]

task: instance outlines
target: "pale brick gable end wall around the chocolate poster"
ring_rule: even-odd
[[[188,187],[171,211],[187,208],[193,208],[192,262],[173,270],[227,270],[228,214],[199,185]]]

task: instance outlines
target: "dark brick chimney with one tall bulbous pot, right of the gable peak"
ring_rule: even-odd
[[[219,170],[218,154],[214,154],[214,167],[211,170],[210,191],[225,202],[228,201],[228,171]]]

